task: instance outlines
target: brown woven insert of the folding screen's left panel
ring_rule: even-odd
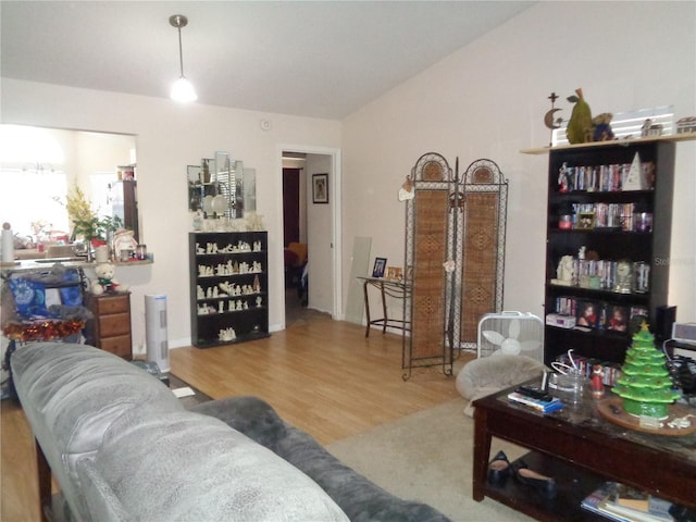
[[[447,257],[447,201],[448,194],[445,190],[418,190],[415,195],[412,359],[443,355],[447,283],[443,263]]]

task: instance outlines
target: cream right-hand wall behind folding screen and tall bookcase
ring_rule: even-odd
[[[539,2],[352,114],[343,140],[345,265],[357,236],[373,238],[372,259],[402,264],[396,196],[422,153],[452,167],[459,157],[460,171],[488,158],[510,182],[504,308],[543,315],[548,158],[520,150],[549,142],[547,97],[561,97],[566,119],[577,87],[594,113],[673,104],[676,117],[695,115],[694,27],[693,1]],[[696,142],[676,148],[669,303],[678,320],[696,321]]]

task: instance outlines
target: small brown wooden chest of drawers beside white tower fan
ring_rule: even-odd
[[[130,360],[130,294],[90,294],[87,296],[87,308],[95,314],[85,328],[87,344]]]

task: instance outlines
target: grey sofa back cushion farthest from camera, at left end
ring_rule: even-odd
[[[90,346],[33,343],[11,364],[24,413],[77,520],[89,519],[75,461],[99,448],[111,423],[150,402],[183,410],[159,380]]]

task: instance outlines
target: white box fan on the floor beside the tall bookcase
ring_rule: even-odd
[[[478,321],[476,357],[521,355],[544,362],[544,322],[531,313],[487,313]]]

